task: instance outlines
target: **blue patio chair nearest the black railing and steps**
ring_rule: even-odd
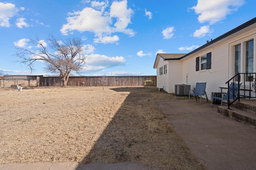
[[[239,88],[241,86],[242,83],[239,84]],[[237,83],[230,83],[229,85],[229,99],[232,100],[232,99],[236,99],[237,98],[237,94],[238,94],[238,84]],[[234,96],[233,96],[233,93],[234,93]],[[228,100],[228,93],[222,93],[221,94],[221,98],[220,97],[217,97],[217,96],[214,96],[215,93],[212,94],[212,102],[213,102],[213,99],[215,100],[221,100],[221,104],[220,106],[222,106],[222,103],[223,103],[223,100]],[[211,107],[212,107],[212,104],[211,104]]]

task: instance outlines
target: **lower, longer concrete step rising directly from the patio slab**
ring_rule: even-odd
[[[256,114],[235,107],[218,106],[218,113],[256,128]]]

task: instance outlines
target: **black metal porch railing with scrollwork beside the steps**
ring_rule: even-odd
[[[241,81],[242,80],[242,81]],[[242,82],[242,85],[240,86],[240,89],[238,90],[235,86],[236,83],[240,84]],[[228,84],[228,109],[230,109],[230,105],[233,104],[236,100],[240,101],[240,98],[256,98],[256,73],[237,73],[234,75],[230,80],[226,82]],[[230,84],[231,87],[230,87]],[[230,87],[230,88],[229,88]],[[231,93],[231,95],[230,95]],[[237,93],[237,96],[235,95]],[[230,96],[232,98],[230,98]],[[230,102],[230,100],[233,100]]]

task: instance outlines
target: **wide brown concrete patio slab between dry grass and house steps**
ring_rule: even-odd
[[[217,112],[210,101],[155,100],[208,170],[255,170],[256,129]]]

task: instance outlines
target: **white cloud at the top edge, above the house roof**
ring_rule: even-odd
[[[198,14],[200,23],[214,24],[226,18],[228,14],[237,11],[244,4],[244,0],[198,0],[192,10]]]

